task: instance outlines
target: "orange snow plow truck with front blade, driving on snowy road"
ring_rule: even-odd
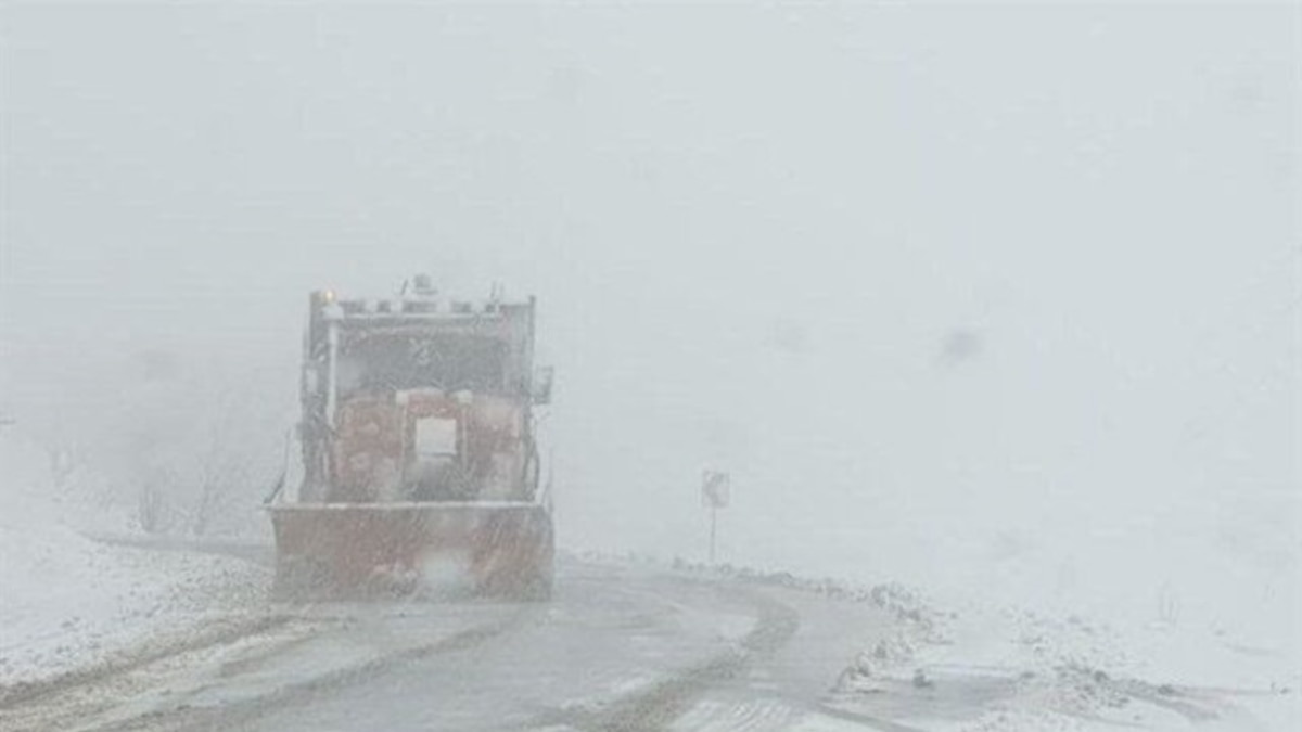
[[[549,481],[535,408],[534,306],[312,292],[303,339],[303,475],[267,500],[281,599],[546,599]]]

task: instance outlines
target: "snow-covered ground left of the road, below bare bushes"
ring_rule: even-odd
[[[86,526],[85,496],[56,490],[47,455],[0,434],[0,688],[82,671],[181,642],[262,603],[266,570],[184,552],[108,546]],[[111,513],[102,528],[117,528]]]

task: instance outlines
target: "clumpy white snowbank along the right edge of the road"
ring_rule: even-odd
[[[848,709],[927,729],[1297,729],[1302,668],[1224,629],[1099,624],[970,600],[865,649]]]

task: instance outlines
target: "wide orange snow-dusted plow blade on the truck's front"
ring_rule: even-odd
[[[549,512],[535,503],[324,503],[268,507],[276,595],[547,599]]]

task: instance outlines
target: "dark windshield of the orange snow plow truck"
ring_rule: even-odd
[[[469,335],[345,337],[339,354],[339,392],[428,387],[499,392],[505,350],[500,340]]]

